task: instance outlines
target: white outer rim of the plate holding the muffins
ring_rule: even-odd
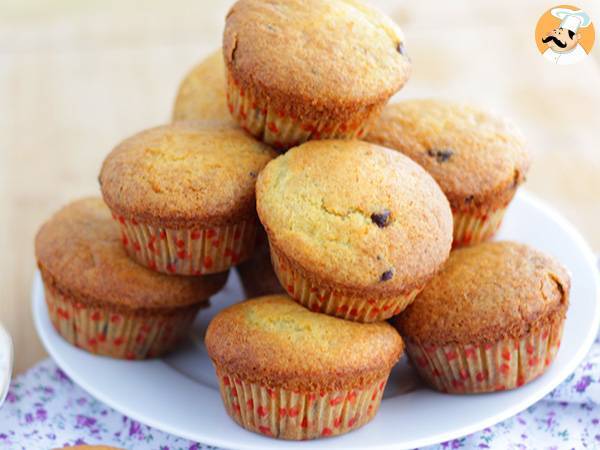
[[[515,402],[511,407],[505,408],[502,412],[494,414],[486,419],[482,419],[481,421],[476,422],[476,424],[465,425],[459,428],[456,428],[451,431],[442,432],[436,434],[436,438],[432,440],[431,438],[422,438],[417,440],[412,440],[408,442],[410,445],[406,445],[402,442],[390,442],[390,443],[382,443],[377,445],[372,445],[367,448],[369,449],[408,449],[414,447],[424,447],[428,445],[439,444],[440,442],[450,441],[453,439],[457,439],[477,431],[480,431],[484,428],[493,426],[497,423],[500,423],[510,417],[515,416],[519,412],[525,410],[529,406],[533,405],[540,401],[543,397],[548,395],[552,390],[554,390],[558,385],[560,385],[571,373],[575,371],[577,366],[581,363],[581,361],[585,358],[587,353],[589,352],[592,344],[595,341],[596,335],[598,334],[598,328],[600,326],[600,274],[597,270],[598,267],[596,265],[596,258],[586,240],[583,238],[581,233],[560,213],[555,211],[552,207],[548,206],[543,200],[540,200],[537,196],[521,189],[517,196],[520,197],[524,202],[535,205],[538,209],[540,209],[546,216],[550,217],[552,221],[556,222],[561,228],[565,229],[566,232],[573,238],[574,241],[578,244],[578,249],[581,251],[582,256],[586,260],[587,264],[592,267],[592,279],[593,286],[595,289],[595,297],[596,297],[596,307],[595,307],[595,316],[592,321],[592,326],[587,331],[585,338],[582,340],[583,345],[581,345],[575,354],[570,358],[567,364],[564,364],[560,367],[559,372],[555,375],[552,382],[549,382],[547,386],[543,389],[540,389],[535,394],[532,394],[520,401]],[[33,289],[31,293],[31,307],[32,314],[34,317],[34,324],[36,327],[36,331],[38,336],[40,337],[44,347],[48,351],[49,355],[54,359],[56,364],[65,371],[65,373],[75,382],[77,385],[82,387],[86,392],[88,392],[93,397],[102,401],[106,405],[110,406],[115,411],[124,414],[134,420],[137,420],[141,423],[144,423],[152,428],[163,431],[165,433],[169,433],[173,436],[181,437],[184,439],[191,440],[196,442],[198,440],[197,436],[192,436],[188,433],[182,433],[181,430],[174,429],[173,427],[167,425],[162,425],[158,423],[156,420],[146,417],[143,414],[138,414],[136,412],[124,410],[120,406],[117,406],[118,403],[112,401],[110,396],[105,395],[102,392],[97,391],[94,386],[88,383],[86,380],[81,379],[81,377],[77,374],[76,371],[72,371],[69,367],[69,364],[65,363],[62,356],[53,348],[49,342],[49,337],[44,333],[44,328],[41,323],[41,310],[46,311],[45,302],[41,300],[41,295],[38,295],[38,291],[42,289],[41,277],[39,275],[39,271],[36,270],[33,279]],[[38,305],[40,303],[41,305]],[[41,306],[41,308],[40,308]],[[162,362],[162,360],[160,360]],[[164,364],[164,362],[163,362]],[[238,425],[236,425],[238,426]],[[268,439],[268,438],[265,438]],[[334,443],[334,438],[328,438],[326,440],[313,440],[313,441],[286,441],[281,439],[270,439],[269,448],[277,448],[277,449],[291,449],[291,448],[300,448],[300,445],[303,443],[312,442],[313,445],[305,445],[305,447],[315,448],[316,444],[322,444],[318,448],[326,448],[326,447],[334,447],[327,445],[327,442]],[[224,449],[239,449],[239,450],[255,450],[257,448],[256,445],[250,444],[245,445],[244,442],[235,442],[223,440],[222,438],[215,439],[202,439],[200,441],[202,444],[216,446]]]

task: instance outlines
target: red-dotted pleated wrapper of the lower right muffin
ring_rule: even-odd
[[[419,374],[435,389],[452,394],[514,389],[540,376],[560,346],[563,321],[521,339],[487,345],[423,346],[406,340]]]

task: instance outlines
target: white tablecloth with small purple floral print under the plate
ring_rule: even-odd
[[[136,422],[95,400],[47,359],[13,381],[0,407],[0,449],[75,444],[128,450],[214,449]],[[600,338],[546,398],[494,427],[429,449],[600,448]]]

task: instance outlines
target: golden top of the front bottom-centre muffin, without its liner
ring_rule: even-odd
[[[314,313],[285,295],[224,309],[209,324],[205,342],[218,370],[303,391],[375,382],[403,350],[386,322],[361,324]]]

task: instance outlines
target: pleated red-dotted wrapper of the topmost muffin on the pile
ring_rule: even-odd
[[[227,77],[227,104],[242,128],[278,149],[287,149],[309,139],[361,138],[368,126],[368,121],[340,123],[332,117],[323,117],[319,121],[291,117],[269,107],[251,90],[242,88],[230,74]],[[375,108],[372,117],[381,108]]]

